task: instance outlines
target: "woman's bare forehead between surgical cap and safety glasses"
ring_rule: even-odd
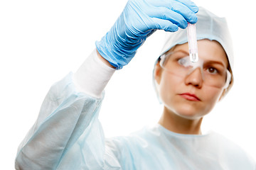
[[[185,51],[188,52],[188,43],[182,45],[176,45],[172,51]],[[198,56],[210,62],[220,62],[225,67],[228,67],[228,58],[225,50],[219,42],[215,40],[198,40]]]

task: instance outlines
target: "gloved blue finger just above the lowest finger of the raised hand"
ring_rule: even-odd
[[[181,14],[171,11],[169,8],[154,8],[154,10],[151,10],[148,15],[151,18],[159,18],[171,21],[171,23],[174,23],[176,26],[180,28],[186,28],[188,26],[188,22],[183,16],[181,16]]]

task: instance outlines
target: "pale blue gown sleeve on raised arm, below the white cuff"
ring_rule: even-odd
[[[98,119],[102,100],[78,91],[72,73],[53,84],[18,147],[15,169],[121,169],[105,149]]]

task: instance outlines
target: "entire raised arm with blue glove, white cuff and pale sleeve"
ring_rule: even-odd
[[[197,11],[189,0],[129,0],[78,72],[50,88],[36,123],[18,148],[16,169],[120,169],[112,149],[105,148],[98,120],[112,67],[128,64],[154,31],[176,31],[187,22],[196,23]]]

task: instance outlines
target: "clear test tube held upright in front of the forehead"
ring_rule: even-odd
[[[196,24],[188,23],[188,52],[191,62],[198,62],[198,47],[196,39]]]

